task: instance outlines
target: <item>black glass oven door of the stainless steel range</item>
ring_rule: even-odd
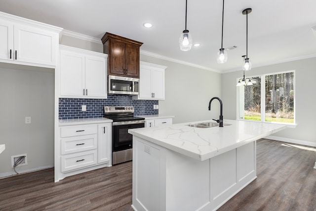
[[[144,122],[122,125],[119,122],[117,122],[118,125],[115,125],[116,122],[114,122],[112,127],[112,152],[132,149],[133,136],[128,133],[128,129],[145,127]]]

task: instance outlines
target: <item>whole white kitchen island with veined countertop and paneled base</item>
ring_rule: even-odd
[[[202,122],[210,121],[129,130],[135,211],[218,209],[257,178],[256,140],[286,128],[237,120],[192,127]]]

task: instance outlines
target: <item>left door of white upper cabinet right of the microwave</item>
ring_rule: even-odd
[[[148,66],[141,65],[139,79],[139,98],[152,99],[152,69]]]

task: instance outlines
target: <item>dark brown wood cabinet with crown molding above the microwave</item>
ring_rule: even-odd
[[[139,47],[143,44],[111,33],[101,38],[108,54],[108,75],[139,78]]]

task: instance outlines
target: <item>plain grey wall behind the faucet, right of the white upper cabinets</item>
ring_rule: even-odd
[[[212,102],[211,111],[208,103],[212,97],[221,98],[221,74],[143,54],[140,60],[167,66],[160,115],[174,115],[173,123],[219,118],[219,102]]]

